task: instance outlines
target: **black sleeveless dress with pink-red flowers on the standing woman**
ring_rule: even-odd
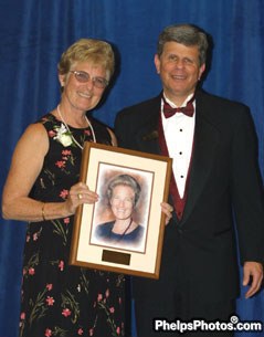
[[[78,181],[82,150],[53,115],[39,122],[46,129],[50,149],[31,197],[63,202]],[[96,141],[110,144],[106,128],[91,122]],[[68,128],[81,145],[93,141],[91,128]],[[125,336],[124,275],[68,265],[72,229],[73,217],[28,224],[21,337]]]

